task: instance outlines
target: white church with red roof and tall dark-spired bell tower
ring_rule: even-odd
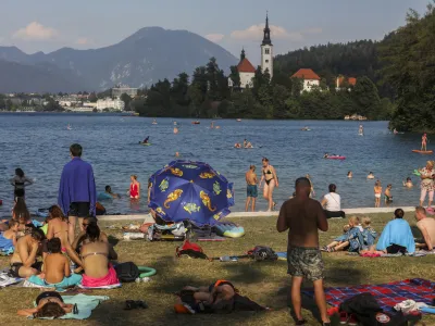
[[[263,41],[261,48],[261,71],[262,73],[268,72],[269,75],[273,76],[273,45],[271,40],[271,28],[269,28],[269,15],[265,15],[265,26],[263,29]],[[241,50],[240,61],[237,65],[237,72],[240,77],[240,88],[250,88],[253,86],[253,77],[256,75],[256,67],[246,58],[245,49]],[[234,87],[233,80],[228,77],[229,87]]]

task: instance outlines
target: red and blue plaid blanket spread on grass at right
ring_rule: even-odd
[[[435,297],[435,283],[422,278],[405,279],[381,285],[361,285],[357,287],[326,288],[326,301],[328,304],[339,304],[360,293],[370,292],[376,299],[381,308],[391,311],[393,308],[405,300],[414,300],[427,305],[432,304]],[[314,291],[303,291],[309,297],[314,297]]]

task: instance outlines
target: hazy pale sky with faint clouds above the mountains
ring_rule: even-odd
[[[1,0],[0,46],[27,53],[89,49],[137,29],[187,29],[259,62],[265,12],[275,54],[304,46],[381,39],[430,0]]]

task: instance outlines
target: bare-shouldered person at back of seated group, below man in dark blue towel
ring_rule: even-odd
[[[61,240],[62,252],[67,253],[70,259],[77,265],[82,265],[82,260],[79,259],[76,251],[71,246],[74,239],[69,239],[69,222],[63,215],[62,210],[58,205],[52,205],[48,209],[50,220],[48,222],[47,239],[59,238]],[[47,246],[45,246],[47,247]],[[44,258],[47,255],[47,248],[44,250]]]

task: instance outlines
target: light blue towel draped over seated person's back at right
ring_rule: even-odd
[[[386,250],[391,244],[405,247],[409,253],[415,251],[414,237],[407,221],[396,218],[388,222],[377,241],[376,249]]]

